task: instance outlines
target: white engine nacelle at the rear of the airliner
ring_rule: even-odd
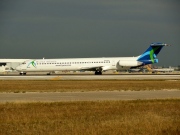
[[[123,67],[136,67],[140,66],[142,63],[136,60],[120,60],[119,65]]]

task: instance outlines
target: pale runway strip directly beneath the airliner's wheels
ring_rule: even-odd
[[[180,75],[151,75],[151,74],[138,74],[138,75],[26,75],[26,76],[15,76],[15,75],[1,75],[0,80],[144,80],[144,79],[165,79],[175,80],[180,79]]]

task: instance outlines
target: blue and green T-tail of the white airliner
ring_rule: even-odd
[[[165,43],[151,43],[149,48],[138,57],[137,61],[142,62],[142,65],[158,63],[157,55],[164,46],[168,46]]]

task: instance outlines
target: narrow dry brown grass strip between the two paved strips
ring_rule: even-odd
[[[24,81],[1,80],[0,92],[68,92],[114,90],[180,90],[180,80],[88,80]]]

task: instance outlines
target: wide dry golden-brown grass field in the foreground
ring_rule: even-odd
[[[179,133],[179,99],[0,104],[1,135]]]

